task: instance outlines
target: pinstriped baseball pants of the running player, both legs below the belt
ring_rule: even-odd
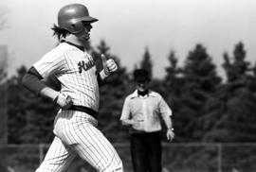
[[[64,171],[79,155],[99,172],[123,172],[115,148],[85,112],[60,111],[54,122],[55,138],[36,172]]]

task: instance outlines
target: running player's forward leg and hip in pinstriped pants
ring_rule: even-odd
[[[96,128],[97,120],[84,112],[64,111],[55,130],[80,157],[100,172],[122,172],[119,155]],[[69,116],[67,118],[67,116]]]

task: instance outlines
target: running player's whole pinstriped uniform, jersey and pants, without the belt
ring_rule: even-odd
[[[42,75],[55,75],[61,92],[70,95],[74,105],[98,112],[99,85],[94,60],[80,48],[60,43],[33,67]],[[60,110],[54,122],[55,138],[36,172],[61,172],[76,155],[100,172],[123,172],[114,146],[96,128],[98,121],[86,112]]]

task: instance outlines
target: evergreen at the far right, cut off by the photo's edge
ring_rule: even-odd
[[[216,122],[206,139],[217,142],[254,142],[256,140],[254,125],[256,120],[255,81],[251,75],[250,63],[246,60],[243,43],[237,43],[231,61],[228,53],[224,55],[223,64],[227,74],[227,83],[222,86],[222,94],[216,97],[221,100],[215,109]],[[221,110],[221,111],[220,111]],[[216,132],[221,131],[221,132]],[[218,133],[213,135],[212,133]]]

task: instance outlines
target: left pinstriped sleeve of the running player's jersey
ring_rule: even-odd
[[[51,51],[32,65],[42,77],[60,74],[65,70],[64,54]]]

